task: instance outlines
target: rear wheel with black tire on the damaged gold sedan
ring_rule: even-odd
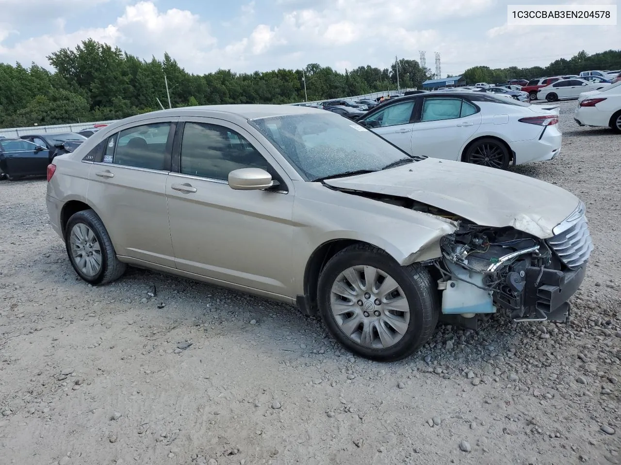
[[[89,245],[91,247],[88,247]],[[87,283],[94,285],[110,283],[120,278],[127,268],[127,265],[117,258],[104,223],[93,210],[78,211],[69,218],[65,228],[65,247],[71,266]],[[78,263],[76,261],[78,257],[75,255],[82,254],[84,257],[84,250],[91,258],[84,258],[84,262]],[[89,265],[96,263],[97,257],[99,267]]]

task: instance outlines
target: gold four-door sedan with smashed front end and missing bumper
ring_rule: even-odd
[[[564,321],[592,250],[566,190],[288,105],[121,120],[53,161],[47,205],[89,283],[134,265],[296,304],[381,361],[440,316]]]

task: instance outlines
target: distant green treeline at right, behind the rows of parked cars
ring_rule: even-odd
[[[507,79],[533,79],[548,76],[559,76],[561,74],[579,74],[580,71],[591,71],[594,69],[620,69],[621,50],[607,50],[601,53],[587,54],[584,50],[574,55],[569,60],[560,58],[548,64],[545,68],[533,66],[533,68],[496,68],[491,69],[487,66],[474,66],[466,69],[463,73],[464,79],[469,84],[474,82],[507,82]]]

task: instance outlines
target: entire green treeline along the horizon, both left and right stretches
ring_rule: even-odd
[[[328,66],[309,64],[301,69],[278,69],[260,73],[189,74],[167,53],[163,60],[141,60],[119,48],[85,40],[75,49],[63,48],[48,56],[55,72],[32,64],[0,63],[0,127],[53,125],[112,120],[168,106],[164,76],[168,78],[173,107],[209,104],[286,104],[304,101],[304,81],[308,100],[333,99],[347,95],[397,88],[396,65],[372,66],[338,73]],[[556,60],[547,68],[470,68],[466,81],[501,82],[509,78],[533,78],[555,74],[578,74],[585,69],[618,69],[621,51],[596,55],[584,51],[571,60]],[[399,60],[402,88],[421,87],[431,78],[415,60]]]

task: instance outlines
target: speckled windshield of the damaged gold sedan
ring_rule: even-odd
[[[250,123],[309,181],[378,171],[412,159],[363,126],[333,113],[258,118]]]

